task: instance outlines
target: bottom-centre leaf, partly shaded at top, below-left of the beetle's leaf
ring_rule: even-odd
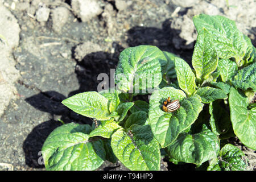
[[[111,146],[115,156],[130,170],[160,169],[160,147],[149,125],[133,125],[131,134],[123,129],[112,135]]]

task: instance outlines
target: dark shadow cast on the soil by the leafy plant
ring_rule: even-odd
[[[157,46],[162,49],[162,51],[181,55],[183,59],[187,60],[188,63],[191,63],[192,50],[183,51],[174,48],[172,44],[174,30],[171,30],[170,24],[170,20],[164,21],[162,29],[154,27],[133,27],[127,32],[127,43],[129,44],[129,47],[139,45]],[[79,80],[80,88],[70,92],[68,97],[81,92],[97,90],[97,85],[101,82],[101,80],[97,81],[97,77],[100,73],[106,73],[110,77],[110,68],[113,69],[117,66],[119,53],[124,49],[115,42],[112,46],[115,49],[113,54],[107,52],[94,52],[86,55],[81,61],[77,61],[75,73]],[[73,54],[74,50],[75,47],[72,49]],[[75,59],[74,56],[73,59]],[[27,166],[44,168],[44,165],[38,163],[38,160],[41,157],[40,151],[48,135],[56,129],[56,127],[61,126],[61,122],[57,121],[58,118],[64,123],[77,122],[81,124],[92,124],[92,119],[82,117],[61,104],[61,101],[65,98],[66,97],[63,96],[63,94],[57,93],[54,90],[41,92],[26,98],[26,102],[31,106],[52,115],[52,118],[49,119],[49,121],[36,126],[23,142],[23,151],[26,156]],[[112,168],[113,167],[105,167],[104,170]]]

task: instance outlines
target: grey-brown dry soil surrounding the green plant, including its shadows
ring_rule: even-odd
[[[123,49],[154,45],[191,64],[197,36],[192,24],[195,14],[236,20],[256,46],[256,1],[240,4],[230,1],[227,6],[225,0],[0,0],[1,10],[10,13],[16,26],[11,32],[0,19],[0,38],[7,39],[7,43],[0,39],[0,45],[10,45],[0,47],[0,55],[7,52],[5,59],[11,63],[8,69],[0,67],[5,91],[0,94],[5,98],[0,105],[0,170],[44,170],[38,163],[40,150],[49,133],[61,125],[58,119],[91,124],[90,118],[60,102],[76,93],[97,90],[101,82],[97,76],[110,76]],[[82,5],[90,14],[84,13]],[[0,17],[3,15],[6,13],[0,11]],[[9,75],[13,77],[9,79]],[[236,138],[232,141],[245,152],[250,170],[255,171],[255,151]],[[105,162],[98,170],[127,168],[120,162]],[[175,165],[162,159],[161,170],[195,170],[195,165]]]

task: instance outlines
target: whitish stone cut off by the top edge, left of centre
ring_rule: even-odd
[[[86,22],[102,13],[102,9],[96,0],[72,0],[73,13],[75,13],[82,22]]]

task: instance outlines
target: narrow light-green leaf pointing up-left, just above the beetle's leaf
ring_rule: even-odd
[[[188,96],[191,96],[196,90],[195,75],[183,59],[175,57],[175,71],[180,89],[184,90]]]

